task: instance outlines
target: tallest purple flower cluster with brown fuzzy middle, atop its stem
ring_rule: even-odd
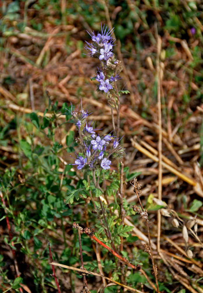
[[[85,46],[86,50],[89,51],[91,57],[97,57],[102,62],[102,68],[97,71],[95,78],[100,84],[98,90],[109,96],[109,93],[113,95],[114,83],[121,77],[119,72],[122,71],[122,62],[115,58],[113,54],[113,43],[115,41],[112,38],[113,29],[101,27],[102,33],[95,35],[94,32],[91,34],[92,43],[87,43]]]

